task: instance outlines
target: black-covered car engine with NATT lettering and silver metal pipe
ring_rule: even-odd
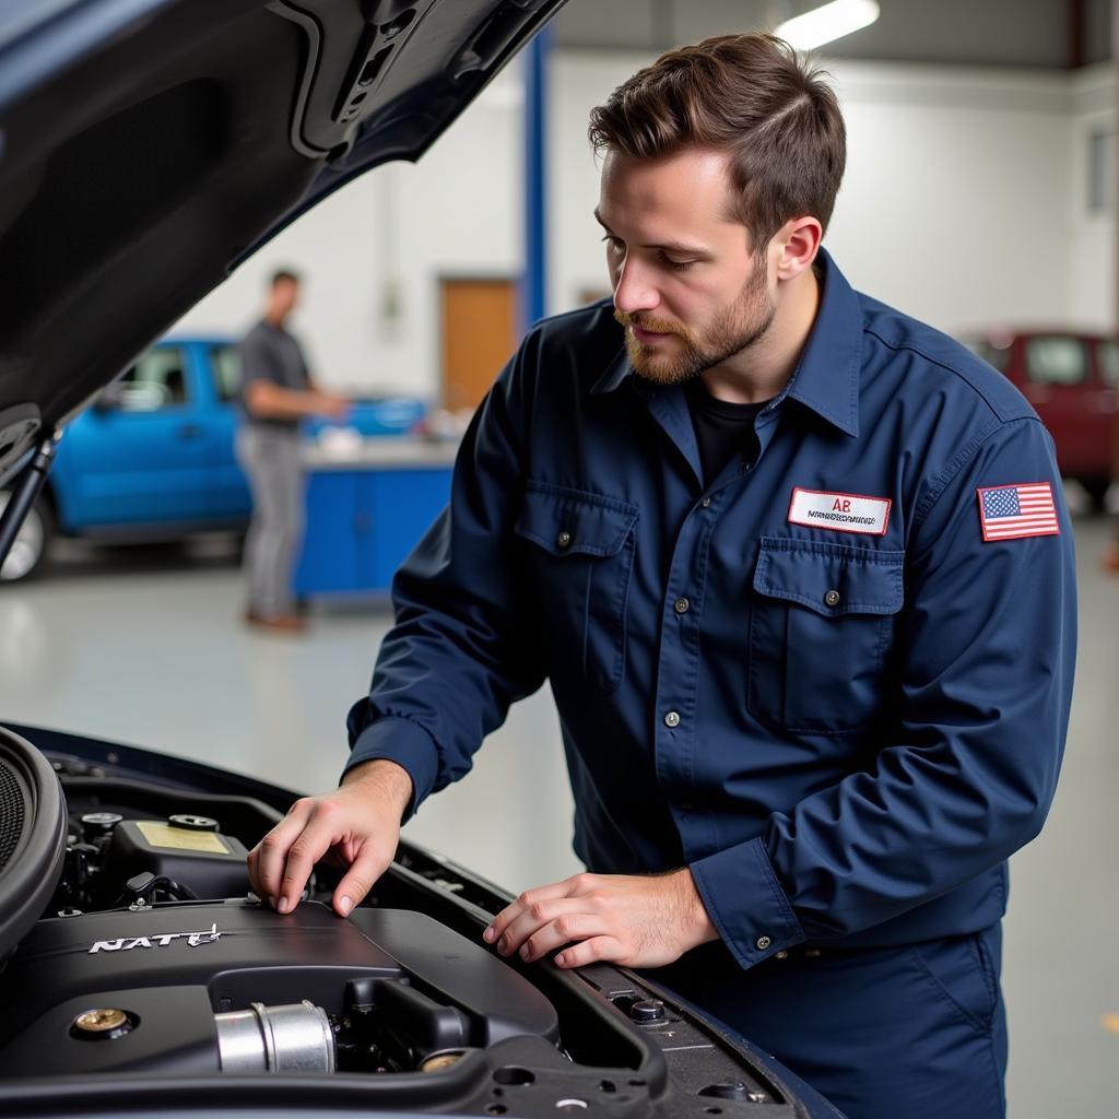
[[[57,915],[0,978],[0,1078],[439,1071],[526,1036],[555,1053],[552,1004],[481,944],[405,909],[280,915],[245,854],[204,816],[83,816]]]

